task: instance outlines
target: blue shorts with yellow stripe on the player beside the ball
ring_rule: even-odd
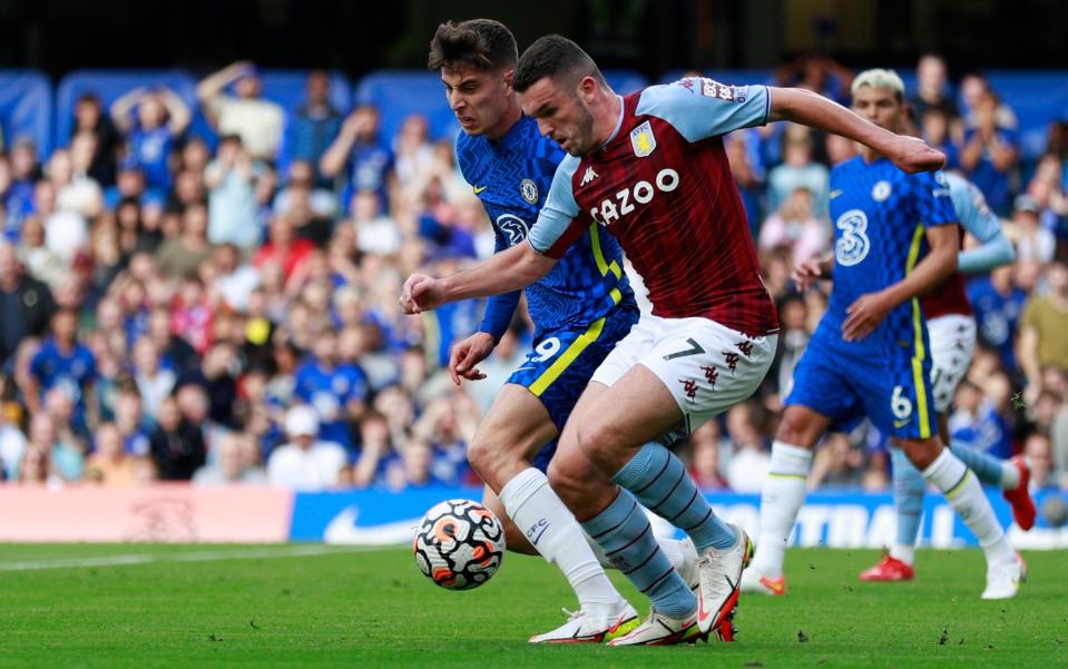
[[[616,343],[627,336],[638,322],[638,315],[637,306],[625,303],[582,329],[541,333],[527,360],[512,372],[507,383],[521,385],[533,393],[549,412],[557,430],[562,432],[590,376]],[[546,471],[553,453],[556,441],[538,452],[533,465]]]

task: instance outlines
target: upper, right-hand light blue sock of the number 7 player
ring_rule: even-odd
[[[689,534],[698,553],[731,548],[737,540],[734,529],[713,513],[683,461],[662,444],[641,446],[613,481],[633,492],[646,509]]]

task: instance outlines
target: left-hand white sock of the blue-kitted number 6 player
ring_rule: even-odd
[[[772,463],[761,492],[761,533],[753,564],[762,577],[783,575],[786,544],[797,512],[805,502],[805,486],[812,468],[812,451],[776,441]]]

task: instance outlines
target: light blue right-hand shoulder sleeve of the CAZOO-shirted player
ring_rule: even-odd
[[[771,100],[766,86],[727,86],[689,77],[645,89],[636,111],[663,118],[693,142],[767,124]]]

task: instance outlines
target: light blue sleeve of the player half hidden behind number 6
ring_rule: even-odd
[[[950,196],[953,198],[953,209],[961,226],[980,243],[977,248],[960,252],[957,269],[964,274],[977,274],[1013,262],[1016,252],[1012,243],[1001,230],[1001,222],[987,205],[982,191],[959,175],[945,176],[949,179]]]

